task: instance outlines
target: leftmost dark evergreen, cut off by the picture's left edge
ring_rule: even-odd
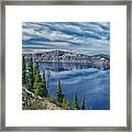
[[[25,58],[22,55],[22,85],[26,84],[26,68],[25,68]]]

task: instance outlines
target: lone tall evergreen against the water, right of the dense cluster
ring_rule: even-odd
[[[62,106],[63,102],[63,98],[64,98],[64,94],[62,92],[62,86],[61,86],[61,80],[58,80],[57,82],[57,105]]]

